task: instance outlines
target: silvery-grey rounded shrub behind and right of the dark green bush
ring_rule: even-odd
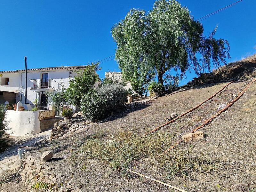
[[[98,89],[99,95],[106,99],[106,112],[114,112],[124,106],[127,101],[127,91],[121,84],[107,84]]]

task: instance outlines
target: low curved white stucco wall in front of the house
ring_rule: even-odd
[[[40,133],[39,112],[7,110],[4,119],[8,122],[8,128],[10,128],[7,133],[13,136]]]

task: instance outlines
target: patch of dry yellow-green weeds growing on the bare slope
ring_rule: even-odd
[[[163,153],[161,145],[172,139],[168,133],[156,132],[138,139],[132,132],[120,132],[112,140],[90,138],[84,142],[72,156],[72,161],[89,159],[100,160],[114,170],[125,170],[142,157],[149,157],[158,162],[167,172],[167,177],[188,177],[193,171],[211,173],[218,169],[218,164],[206,160],[205,156],[191,157],[189,151],[175,149],[168,154]]]

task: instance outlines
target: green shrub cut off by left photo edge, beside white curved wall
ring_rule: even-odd
[[[5,133],[8,130],[7,122],[4,121],[5,113],[6,107],[4,105],[0,105],[0,153],[8,146],[8,136]]]

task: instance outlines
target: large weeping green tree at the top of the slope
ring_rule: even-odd
[[[205,37],[203,25],[186,7],[175,0],[159,0],[148,14],[132,9],[112,28],[115,59],[127,81],[156,72],[163,84],[164,73],[171,69],[182,75],[192,68],[199,74],[210,70],[211,62],[217,68],[230,57],[228,41],[213,38],[216,29]]]

